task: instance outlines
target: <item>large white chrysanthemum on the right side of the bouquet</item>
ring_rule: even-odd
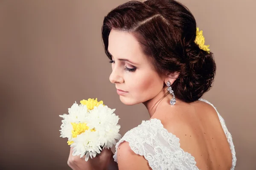
[[[90,128],[95,128],[99,131],[100,143],[103,147],[112,147],[116,144],[115,139],[120,139],[121,135],[118,133],[120,126],[117,125],[119,117],[113,113],[116,109],[108,108],[102,104],[90,110],[87,116],[87,121]]]

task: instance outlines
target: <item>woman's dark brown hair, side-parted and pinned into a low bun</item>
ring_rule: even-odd
[[[215,77],[213,54],[195,44],[196,22],[188,8],[175,0],[129,1],[105,16],[102,39],[108,52],[111,29],[134,35],[145,55],[153,57],[162,74],[179,72],[172,84],[177,99],[194,102],[209,91]]]

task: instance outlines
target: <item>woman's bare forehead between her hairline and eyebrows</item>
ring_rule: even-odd
[[[141,46],[131,33],[114,29],[109,34],[108,51],[118,58],[143,57]]]

